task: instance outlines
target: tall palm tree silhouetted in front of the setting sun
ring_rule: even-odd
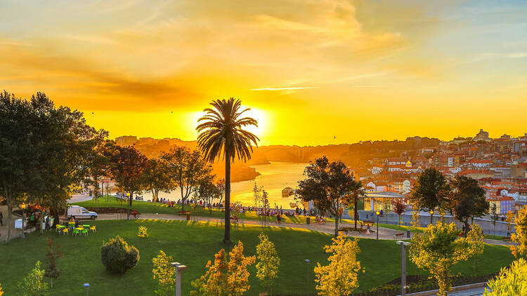
[[[225,160],[225,237],[224,243],[230,243],[230,163],[237,157],[247,161],[251,159],[252,145],[258,146],[260,139],[253,133],[244,130],[245,126],[258,126],[258,121],[251,117],[240,118],[245,109],[240,112],[242,103],[231,97],[228,100],[213,100],[213,108],[204,109],[207,112],[196,130],[197,145],[204,153],[205,159],[214,162],[222,156]]]

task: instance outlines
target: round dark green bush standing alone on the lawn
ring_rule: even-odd
[[[139,261],[139,250],[130,247],[121,236],[116,236],[100,247],[100,259],[111,274],[125,274]]]

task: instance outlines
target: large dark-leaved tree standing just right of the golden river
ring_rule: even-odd
[[[326,156],[316,159],[304,170],[305,180],[298,182],[297,196],[313,201],[319,210],[329,211],[335,217],[335,237],[339,235],[339,217],[349,205],[357,182],[342,161],[331,162]]]

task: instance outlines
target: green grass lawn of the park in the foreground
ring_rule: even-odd
[[[0,279],[6,295],[16,292],[16,283],[26,276],[37,260],[43,260],[46,253],[46,238],[51,237],[56,244],[62,245],[64,257],[58,260],[63,275],[54,281],[51,295],[81,295],[82,283],[90,283],[91,295],[152,295],[157,283],[152,279],[152,258],[159,250],[172,255],[174,261],[186,264],[183,274],[183,295],[190,292],[190,281],[204,273],[207,260],[213,260],[214,253],[224,248],[223,224],[181,222],[174,220],[108,220],[90,221],[97,226],[98,232],[89,236],[58,236],[47,231],[43,236],[30,234],[25,239],[16,239],[8,245],[0,245]],[[138,227],[148,227],[148,238],[137,236]],[[261,227],[240,225],[233,229],[233,242],[242,241],[246,255],[254,255]],[[331,241],[328,234],[305,229],[268,227],[264,229],[275,243],[282,260],[280,278],[275,292],[282,295],[303,295],[306,288],[306,264],[310,259],[309,284],[315,294],[313,265],[315,262],[326,264],[327,255],[323,246]],[[100,262],[100,245],[119,234],[141,253],[141,261],[124,276],[108,274]],[[401,274],[401,247],[393,241],[360,240],[362,253],[358,256],[364,274],[359,274],[360,290],[370,290],[383,283],[398,278]],[[486,245],[485,253],[479,258],[479,270],[474,270],[474,260],[457,264],[455,272],[464,275],[486,275],[498,271],[512,262],[509,250],[500,245]],[[414,264],[407,263],[408,274],[422,274]],[[249,270],[252,288],[246,295],[258,295],[262,292],[256,281],[254,265]]]

